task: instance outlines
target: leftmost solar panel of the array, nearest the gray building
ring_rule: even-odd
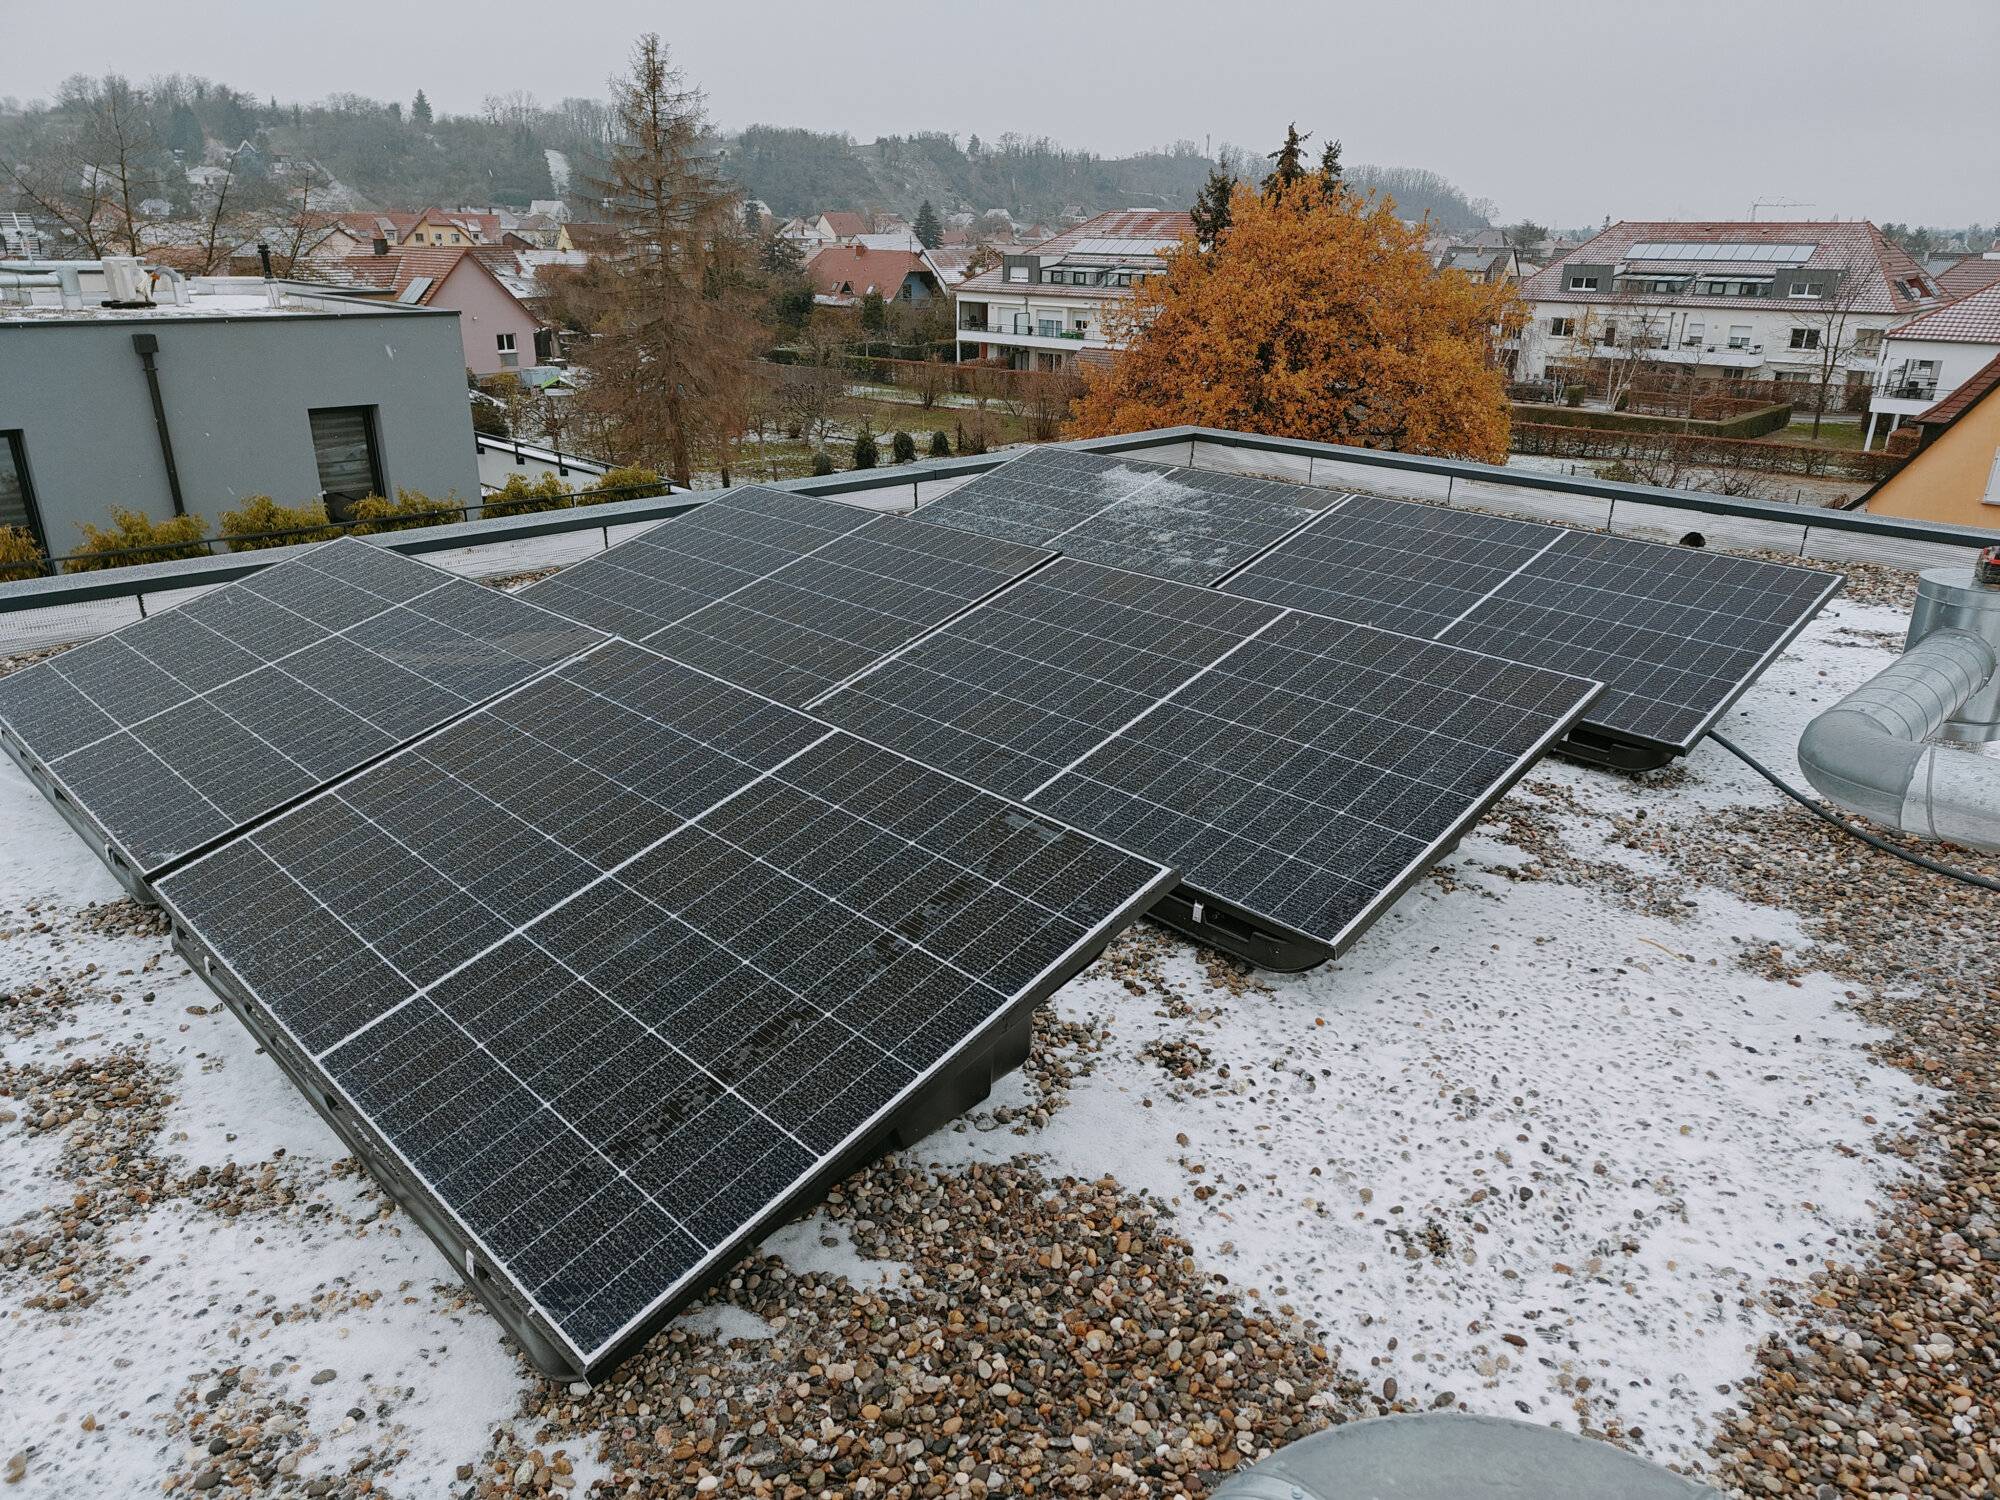
[[[602,640],[348,538],[0,678],[0,744],[144,898],[178,860]]]

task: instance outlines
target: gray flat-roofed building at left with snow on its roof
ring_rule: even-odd
[[[0,306],[0,524],[50,554],[114,504],[478,494],[456,314],[236,276],[106,308],[84,276],[84,306]]]

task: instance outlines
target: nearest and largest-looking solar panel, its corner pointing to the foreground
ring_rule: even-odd
[[[160,882],[552,1376],[1026,1056],[1174,876],[612,642]]]

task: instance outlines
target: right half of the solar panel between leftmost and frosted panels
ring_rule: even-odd
[[[1016,542],[884,516],[646,644],[800,706],[1048,560]]]

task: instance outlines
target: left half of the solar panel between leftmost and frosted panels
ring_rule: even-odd
[[[872,510],[784,490],[724,490],[530,584],[518,598],[644,640],[876,518]]]

